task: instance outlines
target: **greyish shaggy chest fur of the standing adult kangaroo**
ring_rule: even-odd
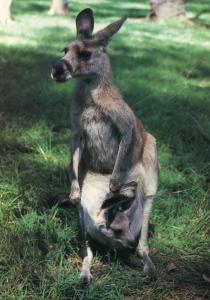
[[[97,107],[86,107],[80,117],[85,138],[84,155],[90,169],[111,173],[119,148],[119,133]]]

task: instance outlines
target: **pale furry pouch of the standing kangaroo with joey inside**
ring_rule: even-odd
[[[133,199],[108,199],[110,177],[87,173],[81,192],[83,222],[88,234],[98,242],[112,249],[130,248],[141,230],[143,193],[139,186]]]

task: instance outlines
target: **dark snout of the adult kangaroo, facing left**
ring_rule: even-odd
[[[51,78],[56,82],[65,82],[72,78],[71,65],[64,59],[59,60],[51,70]]]

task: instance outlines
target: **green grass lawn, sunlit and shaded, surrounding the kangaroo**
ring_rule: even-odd
[[[190,1],[194,25],[153,23],[148,1],[86,1],[96,29],[128,13],[109,53],[126,101],[156,136],[161,175],[152,211],[151,256],[127,264],[100,251],[94,281],[78,286],[75,209],[68,193],[69,101],[73,84],[56,85],[50,66],[75,35],[84,8],[49,17],[50,1],[14,1],[14,23],[0,30],[0,299],[207,299],[210,275],[210,53],[208,3]],[[123,4],[123,5],[122,5]],[[171,269],[172,266],[172,269]]]

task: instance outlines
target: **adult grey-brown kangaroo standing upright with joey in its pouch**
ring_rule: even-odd
[[[155,272],[148,224],[158,182],[156,140],[123,100],[106,52],[125,20],[93,34],[93,11],[81,11],[76,39],[64,48],[51,72],[56,82],[77,78],[71,101],[69,199],[80,216],[85,250],[80,278],[85,283],[92,278],[93,257],[87,236],[114,249],[135,247],[144,272]]]

